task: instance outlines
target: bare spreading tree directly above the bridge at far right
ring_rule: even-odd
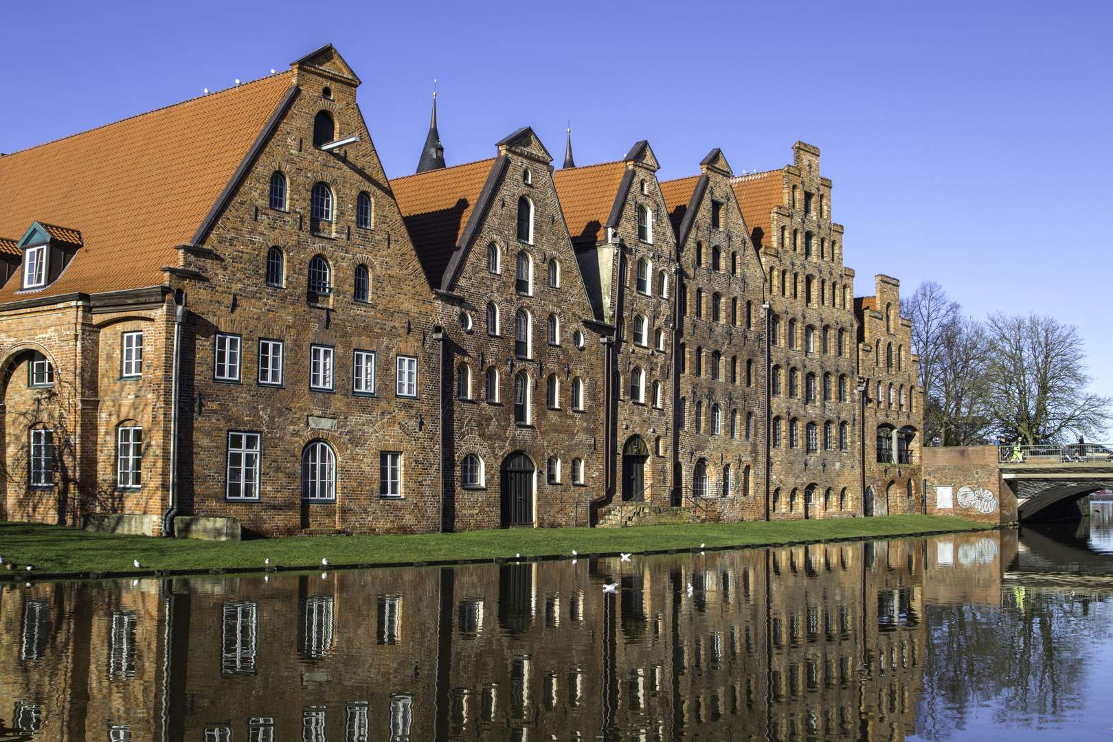
[[[1076,327],[993,314],[986,334],[988,406],[1003,436],[1035,445],[1104,432],[1113,400],[1086,392],[1093,379]]]

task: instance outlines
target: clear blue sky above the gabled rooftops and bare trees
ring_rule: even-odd
[[[1077,325],[1113,395],[1113,3],[6,3],[0,151],[282,70],[333,42],[391,177],[437,79],[449,165],[532,126],[562,162],[649,139],[658,176],[823,151],[858,295],[884,273],[967,313]],[[137,142],[137,146],[141,146]],[[2,204],[0,204],[0,208]]]

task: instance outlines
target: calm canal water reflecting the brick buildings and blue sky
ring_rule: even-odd
[[[1091,525],[8,585],[0,739],[1107,740]]]

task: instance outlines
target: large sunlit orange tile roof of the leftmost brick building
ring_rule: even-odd
[[[53,284],[9,280],[0,303],[165,284],[292,85],[280,72],[0,158],[0,234],[50,221],[85,243]]]

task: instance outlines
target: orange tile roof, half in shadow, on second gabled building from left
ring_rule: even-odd
[[[444,269],[475,208],[494,158],[391,180],[425,278],[441,287]]]

